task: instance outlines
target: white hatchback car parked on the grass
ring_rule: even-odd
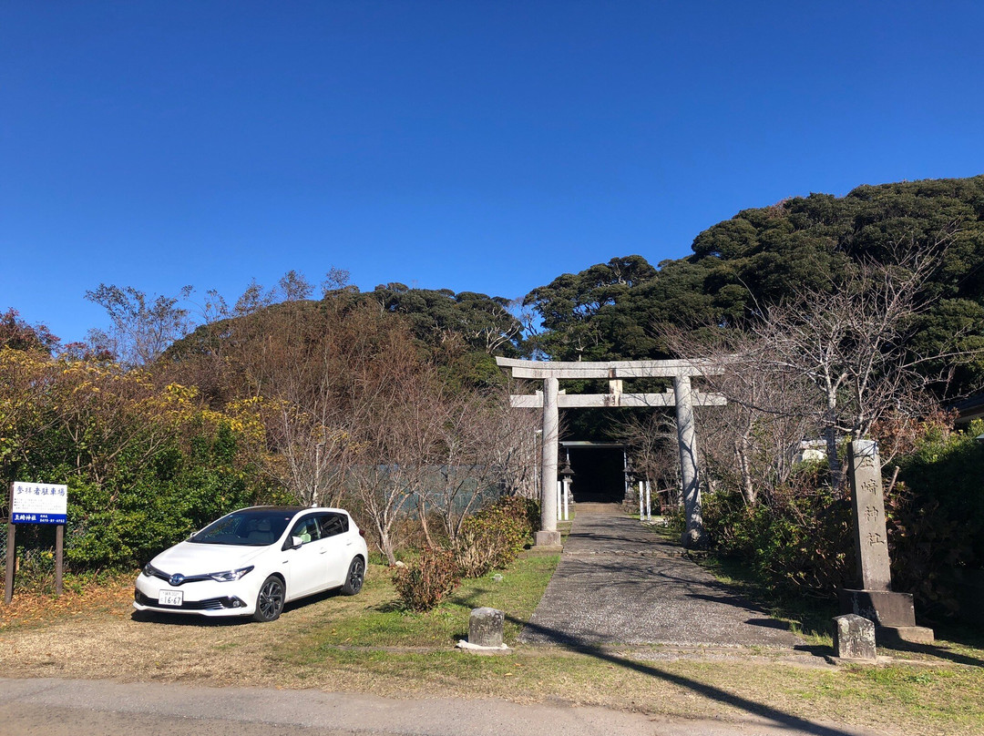
[[[273,621],[288,600],[361,590],[363,537],[341,509],[240,509],[154,557],[137,577],[133,607]]]

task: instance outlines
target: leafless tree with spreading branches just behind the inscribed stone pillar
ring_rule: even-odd
[[[834,486],[842,475],[840,438],[860,439],[892,413],[924,413],[928,387],[946,378],[926,372],[928,366],[970,357],[959,346],[962,334],[933,354],[911,347],[917,318],[931,306],[924,287],[949,238],[899,251],[891,264],[862,262],[828,290],[805,290],[765,308],[753,328],[756,364],[769,379],[812,388],[813,419],[823,427]]]

